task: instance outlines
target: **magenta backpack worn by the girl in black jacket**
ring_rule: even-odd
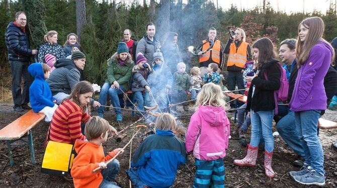
[[[278,102],[284,102],[288,99],[288,92],[289,92],[289,81],[287,78],[287,72],[282,65],[277,62],[281,69],[281,77],[280,77],[280,88],[278,90],[274,90],[274,99],[275,99],[275,115],[278,114]],[[266,80],[268,80],[268,76],[266,72],[264,72],[264,76]]]

